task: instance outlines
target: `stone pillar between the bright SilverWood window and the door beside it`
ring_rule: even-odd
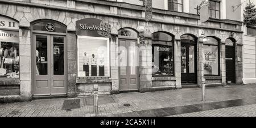
[[[119,93],[119,57],[118,57],[118,38],[116,35],[110,39],[110,69],[112,78],[111,93]]]

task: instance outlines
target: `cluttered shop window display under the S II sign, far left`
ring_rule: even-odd
[[[0,31],[0,77],[19,78],[19,35],[14,31]]]

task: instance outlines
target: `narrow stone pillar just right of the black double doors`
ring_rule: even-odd
[[[204,78],[204,47],[203,37],[199,37],[197,41],[197,85],[202,87],[202,80]]]

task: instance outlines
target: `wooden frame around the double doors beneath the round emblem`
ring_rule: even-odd
[[[40,22],[43,22],[43,21],[40,21]],[[32,25],[31,25],[32,26]],[[57,94],[57,95],[67,95],[67,92],[68,92],[68,40],[67,40],[67,32],[66,33],[57,33],[57,32],[46,32],[46,31],[32,31],[31,29],[31,94],[32,96],[55,96],[54,94],[50,94],[50,95],[35,95],[34,92],[35,92],[35,84],[36,84],[36,69],[35,69],[35,56],[36,54],[34,54],[34,48],[36,46],[36,44],[34,43],[34,35],[44,35],[44,36],[49,36],[50,37],[50,43],[51,43],[51,37],[53,36],[61,36],[61,37],[65,37],[64,39],[64,75],[65,75],[65,84],[66,84],[66,92],[63,93],[63,94]],[[52,60],[51,60],[52,61]],[[51,87],[52,88],[52,87]]]

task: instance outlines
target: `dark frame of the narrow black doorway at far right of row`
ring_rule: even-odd
[[[231,40],[231,39],[230,39]],[[225,45],[225,67],[226,67],[226,47],[229,47],[229,48],[232,48],[233,50],[234,50],[234,53],[233,53],[233,65],[234,65],[234,68],[233,68],[233,71],[234,71],[234,83],[228,83],[228,80],[226,79],[226,84],[236,84],[237,83],[237,79],[236,79],[236,77],[237,77],[237,75],[236,75],[236,68],[237,68],[237,66],[236,66],[236,42],[235,41],[233,41],[233,40],[231,40],[234,44],[233,44],[233,46],[230,46],[230,45]],[[226,69],[225,69],[226,70]],[[226,77],[226,75],[225,75],[225,77]]]

